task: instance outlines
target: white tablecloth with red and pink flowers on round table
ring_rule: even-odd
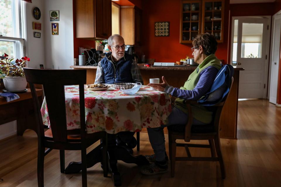
[[[78,85],[65,86],[67,129],[80,128]],[[160,127],[168,123],[171,100],[165,92],[141,86],[134,95],[123,94],[113,87],[105,91],[85,88],[85,120],[87,133],[106,131],[141,131],[143,127]],[[41,108],[43,123],[50,127],[46,99]]]

